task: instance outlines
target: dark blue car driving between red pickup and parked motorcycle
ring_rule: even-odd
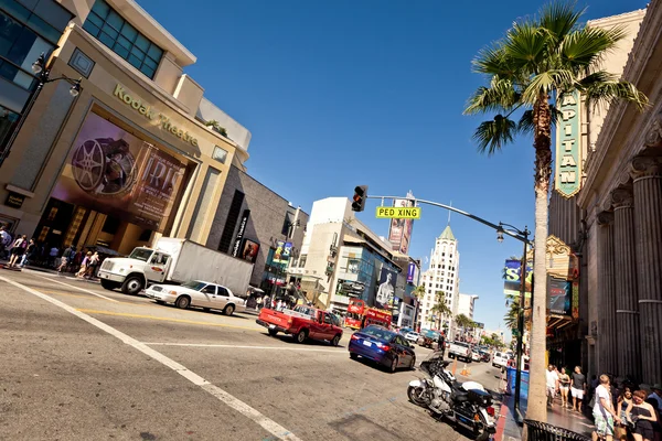
[[[352,359],[361,356],[386,366],[392,373],[398,367],[413,369],[416,365],[414,347],[398,333],[382,326],[371,325],[356,331],[348,348]]]

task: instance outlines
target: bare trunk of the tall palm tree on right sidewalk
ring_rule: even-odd
[[[533,255],[533,310],[530,343],[530,383],[526,418],[547,421],[545,389],[545,352],[547,327],[547,219],[549,207],[549,176],[552,175],[551,115],[546,95],[541,95],[534,106],[535,148],[535,239]]]

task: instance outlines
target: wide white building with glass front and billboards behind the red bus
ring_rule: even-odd
[[[354,216],[346,197],[312,204],[299,259],[288,272],[310,301],[341,315],[351,298],[369,306],[395,309],[397,315],[406,298],[406,272],[395,261],[391,244]],[[384,283],[391,288],[381,291]],[[381,299],[380,292],[391,295]]]

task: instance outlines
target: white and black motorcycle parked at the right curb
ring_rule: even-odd
[[[480,383],[458,383],[446,369],[449,363],[440,353],[433,353],[423,362],[420,370],[429,378],[409,383],[409,400],[429,409],[438,420],[447,419],[470,430],[477,441],[492,438],[496,432],[492,396]]]

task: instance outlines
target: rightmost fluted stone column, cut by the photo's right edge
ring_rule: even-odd
[[[641,332],[642,379],[662,378],[662,165],[658,158],[632,160],[637,286]]]

